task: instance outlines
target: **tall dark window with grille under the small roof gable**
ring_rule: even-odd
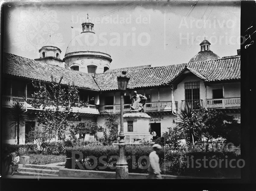
[[[185,100],[200,99],[200,82],[185,82]]]

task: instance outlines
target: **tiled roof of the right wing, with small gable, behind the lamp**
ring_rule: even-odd
[[[128,70],[126,75],[130,80],[127,88],[134,89],[166,85],[185,66],[194,73],[197,72],[198,76],[204,77],[206,82],[240,79],[240,56],[236,56],[218,60]],[[119,75],[121,75],[121,71],[100,73],[96,74],[95,80],[102,91],[117,90],[117,76]]]

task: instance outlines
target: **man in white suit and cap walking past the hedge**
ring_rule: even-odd
[[[160,166],[159,166],[159,156],[158,153],[160,152],[160,150],[162,149],[162,146],[159,144],[154,144],[153,146],[153,151],[150,152],[149,154],[149,161],[150,161],[150,165],[148,168],[148,179],[162,179],[161,176],[161,170],[160,170]]]

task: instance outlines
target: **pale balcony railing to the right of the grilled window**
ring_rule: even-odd
[[[223,98],[223,99],[207,99],[207,108],[239,108],[241,107],[241,98]]]

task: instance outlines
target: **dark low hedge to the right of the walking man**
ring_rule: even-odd
[[[240,155],[237,155],[235,152],[179,151],[168,153],[167,156],[166,174],[215,178],[240,176],[240,168],[229,166],[231,159],[235,159],[236,162],[240,159]],[[220,161],[221,159],[223,159],[222,162]],[[196,160],[198,160],[201,166],[196,163]],[[236,162],[233,162],[232,165],[235,166]]]

